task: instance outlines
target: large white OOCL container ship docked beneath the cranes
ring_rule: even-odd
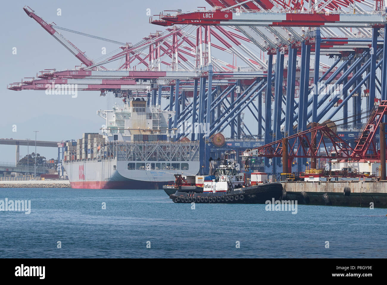
[[[123,101],[97,111],[106,122],[101,133],[65,143],[62,164],[72,188],[162,189],[174,174],[199,172],[199,142],[173,142],[173,111],[144,98]]]

